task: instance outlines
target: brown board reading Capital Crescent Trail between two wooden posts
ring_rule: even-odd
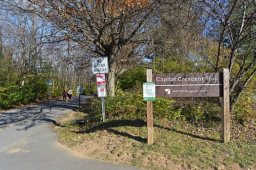
[[[153,74],[156,97],[221,97],[223,73]]]

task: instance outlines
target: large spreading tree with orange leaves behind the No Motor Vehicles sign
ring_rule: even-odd
[[[27,1],[34,6],[28,6],[23,10],[37,13],[51,21],[64,33],[65,39],[72,39],[96,55],[108,56],[110,70],[108,92],[113,96],[118,68],[132,64],[138,46],[145,40],[146,25],[154,16],[153,2],[147,0]],[[20,7],[15,2],[12,2],[12,5]]]

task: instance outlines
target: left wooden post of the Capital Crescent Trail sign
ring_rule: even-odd
[[[147,69],[147,82],[152,82],[152,70]],[[153,144],[153,101],[147,101],[147,138]]]

